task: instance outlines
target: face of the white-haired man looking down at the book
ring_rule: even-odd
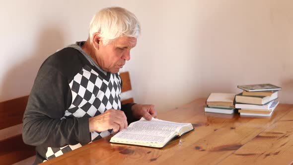
[[[100,41],[99,49],[95,52],[99,67],[107,72],[118,73],[126,60],[130,60],[130,50],[136,44],[135,37],[119,37],[106,46]]]

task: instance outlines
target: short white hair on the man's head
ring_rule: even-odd
[[[90,21],[90,43],[92,43],[95,33],[99,33],[103,44],[107,45],[122,36],[138,38],[141,33],[141,25],[138,18],[125,8],[103,8]]]

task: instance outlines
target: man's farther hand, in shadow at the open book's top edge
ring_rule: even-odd
[[[141,119],[144,117],[147,120],[151,120],[152,117],[156,117],[156,110],[154,109],[154,105],[134,104],[131,107],[131,110],[134,118],[136,119]]]

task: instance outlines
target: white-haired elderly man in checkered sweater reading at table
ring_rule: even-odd
[[[23,117],[23,140],[36,146],[35,164],[156,116],[153,105],[120,103],[119,70],[130,60],[140,24],[121,7],[92,18],[89,37],[41,66]]]

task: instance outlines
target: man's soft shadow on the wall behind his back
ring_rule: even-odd
[[[37,72],[44,60],[64,46],[63,31],[58,28],[44,28],[40,30],[35,42],[36,50],[29,53],[20,63],[11,66],[3,78],[0,91],[0,101],[28,95],[31,91]],[[26,46],[25,44],[23,46]],[[25,52],[11,55],[15,58],[23,56]]]

